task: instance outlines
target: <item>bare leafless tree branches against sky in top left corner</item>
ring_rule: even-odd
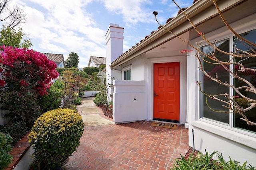
[[[8,5],[11,0],[0,0],[0,22],[4,21],[7,27],[13,29],[20,23],[26,22],[26,15],[18,5],[12,8]]]

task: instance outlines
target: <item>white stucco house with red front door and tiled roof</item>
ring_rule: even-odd
[[[187,16],[208,40],[216,40],[222,50],[233,51],[235,36],[221,20],[212,0],[194,1],[185,10]],[[232,28],[238,33],[245,33],[246,38],[256,43],[256,1],[216,1]],[[202,41],[183,14],[170,18],[164,27],[194,46]],[[233,113],[217,113],[206,106],[197,81],[207,84],[203,90],[216,92],[222,89],[204,79],[194,55],[181,53],[184,49],[193,50],[189,54],[195,54],[196,51],[159,27],[123,53],[123,29],[117,24],[110,24],[106,33],[106,74],[116,77],[114,121],[162,120],[184,124],[189,128],[191,147],[194,143],[195,149],[202,152],[204,149],[208,152],[221,151],[226,161],[230,156],[239,162],[247,161],[256,166],[256,127],[238,127],[239,121]],[[212,52],[205,42],[200,48]],[[246,65],[256,68],[256,61]],[[205,68],[208,69],[207,66]],[[227,77],[231,82],[234,81],[231,75]],[[108,83],[112,82],[107,80]],[[228,92],[234,96],[231,89]],[[255,120],[256,114],[251,116]]]

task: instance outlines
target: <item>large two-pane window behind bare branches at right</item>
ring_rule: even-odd
[[[244,37],[245,39],[248,39],[252,43],[256,43],[256,29],[242,33],[241,36]],[[230,42],[233,42],[233,47],[235,48],[230,49]],[[217,42],[216,47],[226,52],[236,50],[236,52],[238,53],[245,53],[245,52],[255,53],[256,51],[255,47],[251,47],[250,45],[244,43],[243,41],[240,41],[236,36],[234,36],[232,40],[226,39],[226,40]],[[240,51],[238,51],[237,49],[240,49]],[[217,50],[214,51],[214,48],[211,47],[210,45],[201,47],[201,50],[207,55],[216,56],[220,61],[229,61],[231,58],[229,55],[224,55],[223,53],[220,53]],[[216,77],[216,74],[218,74],[218,78],[222,82],[225,82],[225,81],[228,83],[230,82],[230,77],[232,77],[232,75],[230,75],[230,73],[226,71],[222,66],[220,66],[220,64],[213,64],[214,62],[209,63],[212,61],[210,59],[207,59],[205,56],[203,56],[203,59],[205,60],[205,61],[202,60],[202,64],[205,72],[207,72],[212,77]],[[234,62],[242,63],[245,66],[245,68],[254,68],[254,69],[256,68],[256,58],[236,58],[234,59]],[[236,74],[238,74],[238,76],[248,80],[248,82],[250,82],[254,87],[256,87],[255,71],[248,70],[248,71],[241,72],[239,71],[239,67],[237,65],[234,65],[234,66],[230,65],[230,69],[233,70]],[[248,104],[248,100],[242,98],[235,90],[231,92],[232,90],[229,87],[223,86],[217,82],[214,82],[213,80],[210,80],[210,78],[208,78],[204,74],[202,74],[201,82],[202,82],[202,85],[201,85],[202,91],[205,94],[218,95],[218,94],[228,93],[230,94],[230,96],[235,97],[235,101],[240,105],[240,107],[246,108],[250,106]],[[238,80],[237,78],[234,78],[232,82],[235,87],[248,86],[248,84],[246,84],[241,80]],[[248,98],[256,99],[256,94],[254,93],[247,92],[246,90],[243,90],[243,89],[239,91],[240,93],[242,93],[244,96],[247,96]],[[246,131],[256,132],[255,126],[247,125],[245,121],[240,119],[242,116],[239,115],[238,113],[232,114],[232,119],[230,119],[229,116],[231,114],[218,112],[218,111],[229,111],[229,109],[226,109],[225,107],[222,106],[224,105],[224,103],[211,99],[205,94],[202,94],[202,102],[201,102],[202,103],[201,117],[203,119],[208,119],[208,120],[219,122],[226,125],[231,124],[231,127],[234,127],[236,129],[243,129]],[[225,99],[224,96],[220,99],[228,101],[227,99]],[[256,122],[255,107],[254,109],[244,112],[244,114],[246,115],[246,117],[248,117],[250,121]]]

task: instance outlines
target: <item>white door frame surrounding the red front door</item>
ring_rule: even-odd
[[[148,82],[148,120],[154,119],[154,64],[155,63],[180,63],[180,124],[187,122],[187,85],[186,85],[186,59],[187,56],[170,56],[161,58],[147,59],[147,69],[145,72],[145,80]],[[184,107],[185,105],[185,107]]]

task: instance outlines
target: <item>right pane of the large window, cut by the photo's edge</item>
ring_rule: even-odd
[[[248,39],[252,43],[256,43],[256,30],[242,33],[241,36],[244,37],[245,39]],[[241,49],[242,51],[247,51],[247,52],[252,52],[252,53],[254,53],[253,51],[256,51],[255,47],[251,47],[248,44],[244,44],[244,42],[241,42],[236,37],[234,37],[234,46],[238,49]],[[241,51],[236,51],[236,52],[242,53]],[[236,58],[235,60],[238,63],[242,63],[245,68],[256,69],[256,58],[247,58],[247,59],[246,58]],[[234,67],[234,72],[236,72],[238,74],[238,76],[248,80],[254,87],[256,87],[256,72],[249,71],[249,70],[240,72],[238,66]],[[241,80],[238,80],[237,78],[234,79],[234,84],[235,84],[235,87],[248,86],[248,84],[246,84],[245,82],[243,82]],[[254,94],[254,93],[246,92],[245,90],[239,90],[239,92],[241,92],[244,96],[246,96],[248,98],[256,99],[256,94]],[[239,94],[234,91],[234,96],[239,96]],[[250,106],[250,105],[248,105],[248,101],[240,96],[237,97],[235,99],[235,101],[242,108],[247,108],[248,106]],[[249,121],[256,122],[256,107],[244,112],[244,115],[246,115],[246,117],[249,119]],[[256,132],[255,126],[247,125],[245,121],[240,119],[240,117],[242,117],[242,116],[239,115],[238,113],[234,113],[234,127],[238,127],[238,128]]]

